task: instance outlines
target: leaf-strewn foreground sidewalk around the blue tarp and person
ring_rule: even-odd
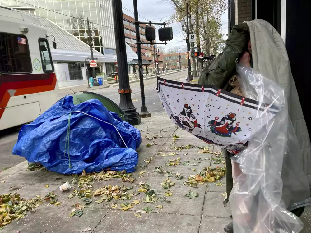
[[[15,233],[18,231],[20,233],[74,233],[83,230],[85,230],[83,232],[94,233],[222,233],[223,227],[231,221],[229,218],[231,215],[230,206],[223,207],[224,196],[222,194],[226,190],[225,176],[214,183],[197,184],[197,188],[183,185],[185,181],[188,181],[189,176],[198,174],[204,170],[204,167],[224,167],[222,155],[219,155],[219,153],[202,153],[202,148],[197,147],[206,147],[207,144],[188,132],[177,128],[169,120],[166,113],[153,114],[151,118],[143,118],[142,124],[137,128],[142,132],[142,144],[137,149],[139,162],[136,171],[131,173],[130,177],[123,177],[123,180],[127,180],[124,182],[121,178],[107,178],[106,176],[101,177],[99,181],[90,181],[88,180],[91,179],[89,176],[85,178],[80,176],[80,185],[86,187],[84,190],[90,190],[89,196],[87,194],[86,196],[82,195],[80,199],[77,196],[67,198],[69,195],[74,194],[74,189],[79,190],[77,186],[63,193],[59,190],[59,186],[66,181],[72,181],[73,176],[41,170],[26,171],[27,162],[22,162],[1,172],[0,195],[16,192],[22,198],[31,199],[35,195],[40,195],[43,198],[53,191],[61,204],[55,206],[44,201],[43,205],[34,208],[25,217],[18,221],[13,220],[12,223],[0,230],[0,233]],[[173,142],[173,135],[179,136],[179,138],[175,139],[176,142]],[[147,144],[151,144],[151,146],[146,147]],[[191,146],[188,146],[187,149],[187,145]],[[195,147],[192,148],[194,145]],[[185,148],[182,149],[182,146]],[[180,151],[175,150],[174,147],[179,147]],[[220,151],[219,148],[213,146],[208,149],[210,152]],[[201,153],[198,153],[199,151]],[[205,148],[205,152],[208,152],[207,148]],[[180,161],[178,160],[179,157]],[[208,158],[215,158],[218,162]],[[176,161],[175,166],[165,166],[165,164]],[[161,169],[165,172],[156,172],[156,170],[161,171]],[[176,173],[180,174],[177,175],[179,178],[183,176],[183,179],[177,179]],[[167,178],[171,182],[161,184]],[[174,185],[173,182],[175,182]],[[221,185],[219,185],[219,182]],[[147,187],[148,184],[150,187]],[[195,182],[189,184],[193,186]],[[47,185],[49,186],[46,187]],[[112,185],[110,188],[113,190],[121,189],[122,185],[128,187],[129,190],[125,190],[128,193],[124,194],[123,192],[123,197],[128,199],[122,201],[122,198],[112,198],[109,202],[104,200],[101,203],[95,203],[96,200],[101,199],[101,196],[93,197],[92,194],[105,185]],[[115,185],[118,185],[118,187]],[[132,186],[132,189],[129,186]],[[163,186],[171,187],[165,189]],[[148,189],[149,193],[150,190],[154,190],[155,195],[153,196],[150,193],[150,196],[147,197],[144,193],[146,190],[142,190],[142,188]],[[191,199],[186,197],[185,194],[188,194],[190,190],[193,193],[197,192],[197,197]],[[88,199],[88,197],[91,197],[91,199]],[[107,196],[102,197],[107,198]],[[86,199],[83,201],[82,198]],[[166,200],[160,201],[161,199]],[[90,200],[92,202],[86,204]],[[128,205],[129,203],[131,205]],[[121,204],[125,205],[122,206]],[[122,207],[128,209],[125,211],[120,210]],[[70,217],[69,214],[73,209],[76,211],[81,209],[83,215],[81,217]],[[146,210],[151,212],[146,213]],[[308,221],[310,219],[310,209],[305,211],[302,218],[305,224],[310,226],[310,223],[308,223],[310,222]],[[310,232],[309,229],[306,226],[302,232]]]

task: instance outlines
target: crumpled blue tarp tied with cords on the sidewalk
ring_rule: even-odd
[[[114,126],[73,111],[116,126],[128,148]],[[74,105],[73,97],[67,96],[35,121],[22,126],[12,154],[25,157],[29,162],[40,162],[49,171],[62,174],[80,174],[83,169],[86,172],[103,169],[133,172],[138,162],[135,149],[141,140],[139,130],[108,111],[99,100]]]

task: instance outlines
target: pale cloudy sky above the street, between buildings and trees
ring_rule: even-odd
[[[152,2],[152,3],[151,3]],[[122,0],[123,13],[127,14],[131,17],[134,17],[134,14],[130,11],[133,11],[133,1],[132,0]],[[124,9],[127,8],[127,9]],[[153,22],[164,22],[167,21],[175,10],[169,3],[159,3],[157,1],[149,1],[149,0],[137,0],[137,8],[138,14],[148,20]],[[139,17],[139,21],[146,21],[146,19]],[[228,33],[228,13],[227,11],[221,17],[222,22],[222,33]],[[181,24],[170,24],[173,28],[173,40],[168,42],[168,45],[165,46],[165,49],[174,48],[175,46],[183,46],[186,45],[186,42],[183,41],[186,37],[185,34],[182,33]],[[156,29],[159,27],[156,26]],[[157,30],[156,30],[157,33]],[[158,37],[158,36],[157,36]],[[164,46],[164,45],[163,45]]]

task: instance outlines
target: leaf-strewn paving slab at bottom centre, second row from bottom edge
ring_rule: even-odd
[[[170,180],[175,181],[175,186],[172,186],[170,190],[173,192],[171,197],[167,197],[170,202],[154,202],[154,203],[144,203],[142,198],[145,198],[145,194],[142,193],[137,196],[137,199],[140,200],[141,204],[136,205],[131,210],[140,210],[142,206],[149,206],[153,209],[154,212],[161,213],[172,213],[172,214],[188,214],[188,215],[201,215],[202,206],[204,201],[204,193],[206,190],[206,185],[199,185],[198,188],[189,188],[183,185],[183,180],[176,180],[174,176],[169,177]],[[168,191],[164,189],[160,183],[162,183],[166,177],[160,174],[150,174],[146,175],[143,178],[137,177],[134,181],[134,186],[139,186],[138,183],[146,182],[151,184],[150,189],[159,192],[158,197],[165,197],[165,192]],[[189,190],[193,192],[198,192],[198,197],[195,199],[189,199],[185,197],[185,194],[188,194]],[[135,197],[133,197],[135,198]],[[133,199],[132,198],[132,199]],[[120,202],[118,202],[119,204]],[[156,205],[164,205],[163,209],[156,208]]]

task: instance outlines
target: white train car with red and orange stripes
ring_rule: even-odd
[[[58,84],[46,38],[38,20],[0,7],[0,130],[33,121],[55,103]]]

